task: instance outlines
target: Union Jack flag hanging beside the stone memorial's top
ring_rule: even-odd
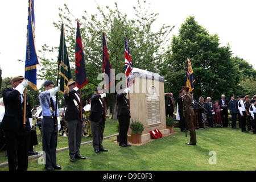
[[[133,65],[131,64],[130,49],[127,44],[127,38],[125,37],[125,75],[126,75],[126,86],[129,87],[133,83],[130,81],[133,77]]]

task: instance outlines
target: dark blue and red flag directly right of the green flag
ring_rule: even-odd
[[[86,78],[84,51],[82,51],[82,40],[79,28],[79,22],[77,20],[76,29],[76,86],[81,89],[88,83]]]

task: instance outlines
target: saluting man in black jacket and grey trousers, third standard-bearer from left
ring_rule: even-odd
[[[76,159],[86,159],[81,156],[80,145],[82,140],[82,118],[80,113],[80,96],[75,81],[68,83],[69,94],[65,92],[64,98],[67,105],[65,120],[68,124],[68,149],[71,162],[76,162]]]

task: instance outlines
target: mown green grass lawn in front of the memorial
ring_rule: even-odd
[[[112,125],[114,131],[115,122],[106,123]],[[179,129],[175,128],[175,131]],[[113,132],[115,133],[115,132]],[[105,134],[105,133],[104,133]],[[108,134],[112,132],[109,130]],[[57,164],[62,170],[250,170],[256,169],[255,141],[253,133],[242,133],[240,129],[210,128],[196,130],[197,145],[188,146],[189,142],[185,133],[175,133],[168,137],[160,138],[142,146],[119,147],[114,140],[116,137],[103,141],[103,146],[108,152],[94,153],[92,143],[81,146],[81,155],[86,160],[69,162],[68,150],[57,153]],[[67,146],[67,144],[66,144]],[[209,152],[215,151],[217,163],[210,165]],[[3,168],[1,170],[7,170]],[[28,170],[44,170],[38,160],[30,161]]]

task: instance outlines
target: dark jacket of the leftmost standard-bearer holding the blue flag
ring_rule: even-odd
[[[2,92],[3,104],[5,104],[5,115],[2,120],[2,129],[7,131],[23,130],[23,103],[20,100],[20,93],[13,88],[5,88]],[[27,94],[26,118],[32,117],[31,106],[29,105],[29,95]],[[30,122],[26,120],[24,130],[30,130]]]

